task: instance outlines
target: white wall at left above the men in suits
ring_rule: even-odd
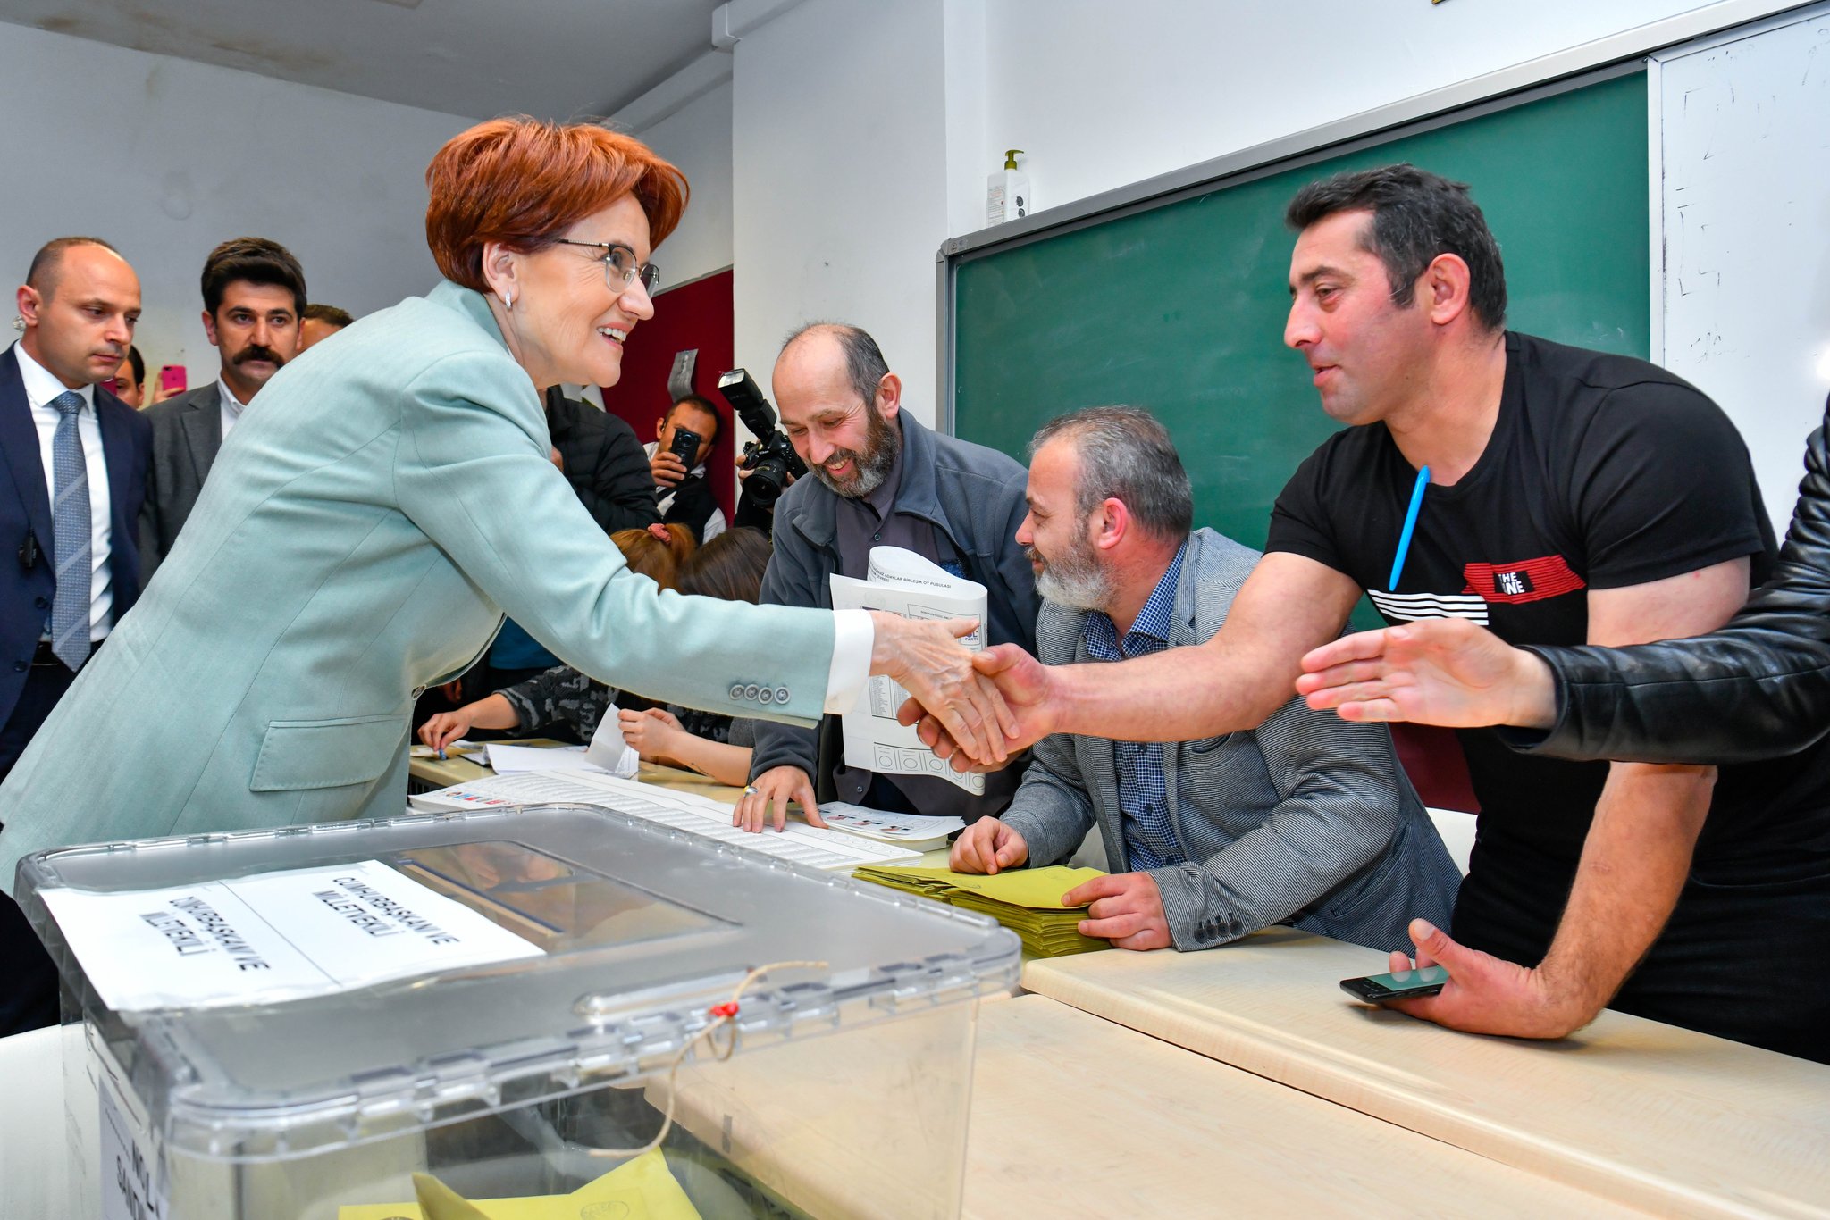
[[[357,315],[432,287],[425,168],[472,124],[22,26],[0,26],[0,316],[38,245],[104,238],[139,273],[135,344],[192,386],[218,369],[198,276],[225,238],[280,241]]]

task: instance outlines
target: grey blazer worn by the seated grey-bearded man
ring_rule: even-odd
[[[1169,646],[1211,638],[1257,560],[1250,547],[1195,530]],[[1091,660],[1083,620],[1043,602],[1038,657]],[[1383,724],[1349,724],[1292,699],[1257,730],[1166,743],[1164,779],[1188,863],[1151,876],[1177,949],[1206,949],[1272,924],[1409,949],[1411,918],[1448,927],[1462,878]],[[1038,743],[1003,821],[1028,843],[1032,865],[1067,860],[1098,825],[1113,871],[1127,871],[1113,743],[1065,733]]]

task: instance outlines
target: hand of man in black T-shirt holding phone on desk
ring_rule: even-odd
[[[1426,920],[1411,920],[1416,966],[1442,966],[1449,980],[1438,995],[1393,1001],[1385,1008],[1435,1021],[1464,1033],[1501,1033],[1506,1037],[1566,1037],[1596,1019],[1607,1004],[1563,995],[1543,969],[1526,969],[1491,953],[1455,944],[1446,931]],[[1404,953],[1391,955],[1393,973],[1411,969]]]

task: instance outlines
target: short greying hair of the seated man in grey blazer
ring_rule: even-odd
[[[1169,430],[1142,406],[1085,406],[1056,415],[1030,437],[1030,457],[1067,439],[1080,455],[1074,510],[1082,519],[1107,499],[1124,501],[1153,538],[1180,541],[1195,527],[1195,492]]]

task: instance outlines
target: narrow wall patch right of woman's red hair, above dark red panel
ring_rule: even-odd
[[[661,285],[686,284],[730,267],[730,80],[646,126],[624,126],[686,176],[686,218],[659,251]]]

